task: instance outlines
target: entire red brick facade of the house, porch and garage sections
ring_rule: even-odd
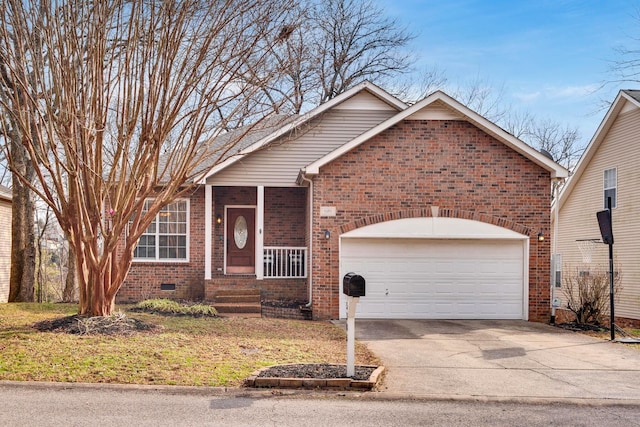
[[[264,245],[308,246],[309,188],[265,188]],[[439,215],[499,225],[532,237],[529,319],[549,318],[550,174],[465,121],[404,121],[320,169],[313,179],[313,318],[339,316],[339,236],[398,218]],[[213,217],[255,206],[255,187],[213,187]],[[321,218],[320,206],[337,208]],[[212,278],[204,279],[204,189],[190,204],[187,263],[135,263],[119,301],[148,297],[210,300],[217,289],[260,288],[263,299],[306,301],[304,279],[224,275],[224,224],[212,226]],[[324,230],[331,238],[324,238]],[[176,285],[161,291],[162,283]]]

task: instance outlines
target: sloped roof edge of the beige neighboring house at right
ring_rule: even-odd
[[[591,162],[591,159],[598,151],[602,141],[604,141],[605,137],[609,133],[609,130],[611,129],[611,126],[613,126],[616,118],[627,108],[640,108],[640,90],[628,89],[618,92],[616,99],[611,104],[611,107],[609,107],[609,111],[605,114],[600,126],[598,126],[598,129],[591,138],[591,141],[589,141],[587,148],[582,153],[582,156],[573,171],[573,175],[571,175],[567,180],[567,183],[562,188],[562,191],[560,191],[557,204],[554,203],[552,209],[556,209],[556,207],[557,209],[562,208],[562,205],[575,188],[576,183],[580,181],[580,177],[584,174],[587,166]]]

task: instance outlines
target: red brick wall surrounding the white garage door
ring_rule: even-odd
[[[464,121],[404,121],[323,167],[314,179],[313,316],[339,315],[338,236],[396,217],[449,216],[532,237],[529,318],[549,316],[550,175]],[[337,216],[320,218],[321,205]],[[331,239],[323,238],[323,230]]]

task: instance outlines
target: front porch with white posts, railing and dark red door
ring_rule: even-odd
[[[206,301],[242,289],[258,289],[263,302],[308,301],[307,194],[304,187],[205,187]]]

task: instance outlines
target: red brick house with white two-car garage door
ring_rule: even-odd
[[[548,320],[567,171],[448,95],[363,83],[252,142],[159,214],[120,301],[257,288],[330,319],[355,272],[360,318]]]

